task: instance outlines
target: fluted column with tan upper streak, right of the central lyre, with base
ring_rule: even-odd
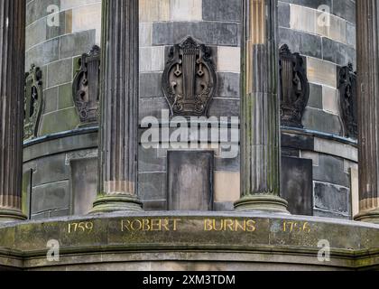
[[[280,198],[277,0],[243,0],[241,200],[236,210],[288,212]]]

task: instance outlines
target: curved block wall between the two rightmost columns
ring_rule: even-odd
[[[282,171],[290,168],[285,175],[294,180],[312,173],[314,215],[349,218],[357,213],[358,160],[356,140],[344,137],[338,70],[348,63],[356,70],[356,1],[280,0],[279,23],[281,45],[304,57],[310,81],[304,130],[283,131]],[[306,160],[312,172],[296,172]],[[296,189],[283,182],[283,190]]]

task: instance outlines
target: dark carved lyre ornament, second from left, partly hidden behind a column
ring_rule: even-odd
[[[80,126],[97,124],[99,107],[100,48],[94,46],[79,58],[79,70],[72,83],[72,95]]]

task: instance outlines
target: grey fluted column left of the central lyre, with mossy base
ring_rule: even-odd
[[[103,0],[99,196],[92,212],[142,210],[137,196],[138,0]]]

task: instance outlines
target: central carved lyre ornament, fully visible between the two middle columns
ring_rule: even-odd
[[[162,89],[172,116],[208,116],[217,88],[211,50],[187,37],[171,47],[162,76]]]

